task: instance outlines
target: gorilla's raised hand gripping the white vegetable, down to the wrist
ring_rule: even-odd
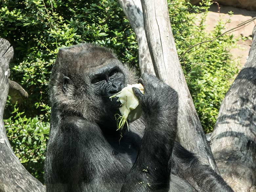
[[[135,87],[133,92],[146,117],[159,116],[166,119],[172,115],[177,116],[178,94],[174,89],[148,73],[142,74],[138,83],[143,85],[144,95]]]

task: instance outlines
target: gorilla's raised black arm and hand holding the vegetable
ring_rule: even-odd
[[[169,191],[171,159],[177,130],[178,95],[157,77],[143,74],[145,95],[133,88],[145,116],[145,133],[122,192]]]

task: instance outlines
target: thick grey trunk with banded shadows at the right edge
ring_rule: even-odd
[[[221,175],[237,192],[256,185],[256,26],[249,58],[228,90],[212,133]]]

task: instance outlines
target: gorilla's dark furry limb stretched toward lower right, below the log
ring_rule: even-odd
[[[175,142],[172,173],[184,178],[195,189],[204,192],[234,192],[223,178],[208,165],[203,165],[191,152]]]

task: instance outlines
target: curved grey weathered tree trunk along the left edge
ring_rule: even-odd
[[[10,76],[9,62],[13,57],[10,43],[0,38],[0,192],[42,192],[45,187],[20,163],[12,151],[3,122]]]

